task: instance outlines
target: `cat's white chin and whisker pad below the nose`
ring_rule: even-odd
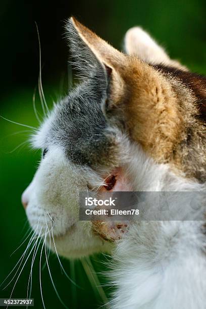
[[[58,220],[60,218],[55,218],[54,214],[49,214],[50,218],[54,218],[50,220],[50,218],[46,219],[46,215],[41,209],[37,208],[37,211],[34,209],[36,208],[29,207],[27,210],[34,235],[37,235],[42,241],[45,239],[46,246],[52,249],[55,254],[68,259],[80,259],[94,253],[111,252],[112,244],[94,234],[90,221],[78,221],[62,227]],[[62,228],[55,228],[53,220],[56,227]]]

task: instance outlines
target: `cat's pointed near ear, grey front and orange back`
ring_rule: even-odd
[[[76,59],[74,64],[77,70],[80,69],[80,73],[83,71],[83,75],[87,77],[89,77],[90,72],[90,76],[92,76],[94,70],[103,70],[108,81],[107,90],[110,101],[117,102],[124,91],[124,82],[120,71],[124,67],[127,56],[101,39],[74,17],[70,18],[67,30],[72,55]],[[98,66],[96,62],[98,62]]]

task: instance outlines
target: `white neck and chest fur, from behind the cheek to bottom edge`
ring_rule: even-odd
[[[137,191],[204,191],[205,185],[186,181],[170,172],[167,165],[157,165],[146,158],[140,147],[133,146],[130,170]],[[136,148],[136,149],[135,149]],[[138,152],[138,156],[135,153]],[[187,205],[177,199],[173,213],[184,220]],[[154,200],[150,202],[155,212]],[[202,202],[201,200],[199,201]],[[204,220],[205,203],[198,210]],[[188,210],[188,209],[187,209]],[[157,213],[158,214],[158,213]],[[196,212],[193,217],[195,220]],[[158,215],[153,218],[158,220]],[[117,291],[114,309],[203,309],[205,308],[206,271],[203,221],[138,221],[117,244],[112,273]]]

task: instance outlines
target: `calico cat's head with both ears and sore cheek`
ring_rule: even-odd
[[[81,82],[32,138],[43,155],[22,201],[33,230],[46,242],[54,236],[53,249],[76,258],[108,251],[107,240],[120,237],[115,227],[79,221],[79,193],[161,190],[168,170],[161,163],[178,140],[181,117],[172,86],[146,63],[140,47],[152,50],[153,65],[170,59],[140,28],[125,37],[128,53],[135,46],[140,50],[135,56],[119,52],[74,18],[67,37]]]

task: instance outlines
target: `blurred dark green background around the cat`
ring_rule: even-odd
[[[37,85],[39,57],[35,21],[39,28],[42,52],[42,82],[49,106],[68,89],[68,48],[64,21],[74,15],[115,47],[122,48],[126,30],[141,25],[193,72],[206,73],[206,2],[174,1],[1,1],[1,105],[0,115],[12,121],[37,126],[32,97]],[[41,113],[38,95],[36,106]],[[20,132],[22,131],[22,132]],[[40,152],[29,148],[29,129],[0,119],[1,132],[1,237],[0,281],[9,274],[25,249],[22,245],[12,256],[28,230],[20,198],[32,179]],[[23,144],[22,144],[23,143]],[[27,243],[27,241],[25,242]],[[103,256],[91,258],[97,272],[104,271]],[[76,281],[71,284],[55,255],[50,268],[57,290],[69,308],[97,308],[101,299],[80,261],[62,260],[65,270]],[[23,265],[23,264],[22,264]],[[13,297],[26,297],[31,259],[15,286]],[[19,271],[21,268],[19,269]],[[16,272],[16,271],[15,271]],[[10,297],[17,279],[3,290],[15,275],[1,286],[0,297]],[[101,283],[107,278],[98,276]],[[42,270],[42,290],[46,308],[63,308],[50,282],[47,268]],[[106,294],[111,289],[105,288]],[[32,298],[42,308],[39,287],[39,256],[33,267]]]

